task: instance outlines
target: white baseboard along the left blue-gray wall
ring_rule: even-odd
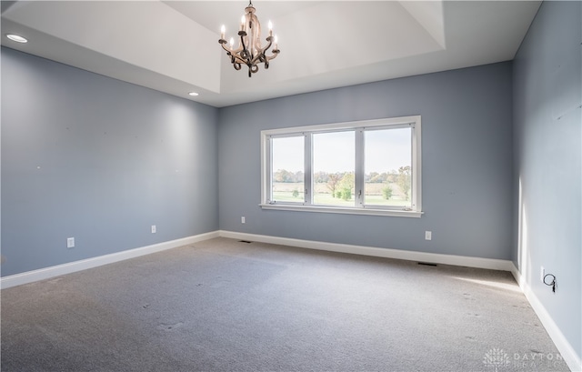
[[[196,236],[187,236],[176,240],[170,240],[163,243],[154,244],[151,246],[142,246],[135,249],[129,249],[122,252],[116,252],[104,256],[96,256],[80,261],[69,262],[57,266],[49,266],[40,268],[38,270],[27,271],[25,273],[15,274],[12,276],[4,276],[0,278],[0,288],[5,289],[9,287],[21,286],[23,284],[32,283],[38,280],[45,280],[55,276],[62,276],[65,274],[75,273],[77,271],[85,270],[96,266],[103,266],[112,264],[114,262],[123,261],[125,259],[134,258],[138,256],[145,256],[151,253],[164,251],[166,249],[176,248],[178,246],[186,246],[202,240],[218,237],[218,232],[210,232]]]

